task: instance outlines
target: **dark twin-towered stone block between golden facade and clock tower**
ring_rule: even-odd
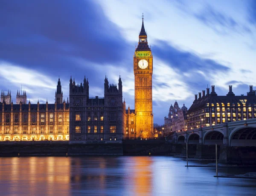
[[[70,140],[120,141],[123,139],[122,80],[118,88],[105,77],[104,97],[89,97],[89,82],[70,78]]]

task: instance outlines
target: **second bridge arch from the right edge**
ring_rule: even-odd
[[[204,145],[223,145],[224,134],[219,130],[208,131],[204,135]]]

